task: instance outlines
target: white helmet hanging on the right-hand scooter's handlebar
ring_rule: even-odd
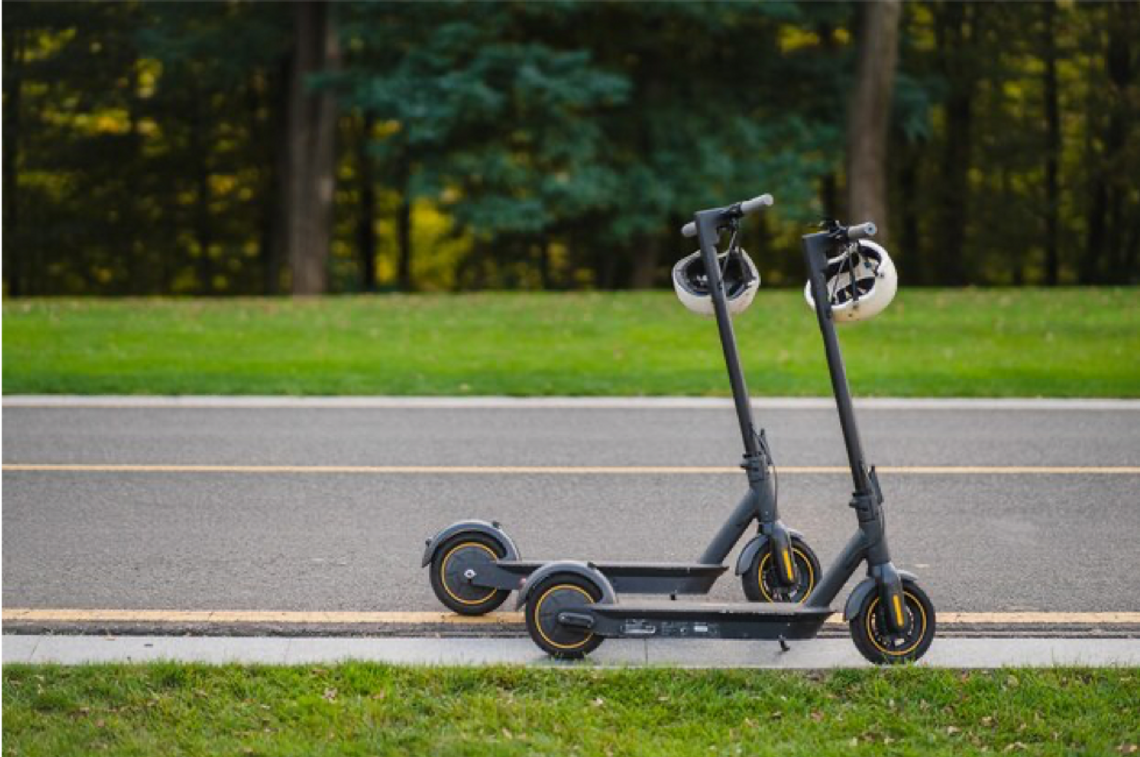
[[[898,291],[898,271],[890,255],[882,245],[868,239],[852,242],[829,259],[824,279],[836,323],[879,315]],[[804,287],[804,298],[814,310],[811,282]]]

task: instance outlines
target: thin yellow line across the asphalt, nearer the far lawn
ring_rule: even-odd
[[[1140,475],[1140,465],[883,465],[889,475]],[[98,463],[0,463],[0,472],[44,473],[366,473],[374,475],[708,475],[739,467],[668,465],[162,465]],[[839,465],[787,465],[781,473],[848,473]]]

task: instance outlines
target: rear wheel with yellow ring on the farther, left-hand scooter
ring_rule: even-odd
[[[504,557],[506,550],[487,534],[456,534],[435,550],[431,560],[431,589],[443,605],[459,614],[487,614],[506,602],[511,592],[473,586],[463,578],[466,569]]]

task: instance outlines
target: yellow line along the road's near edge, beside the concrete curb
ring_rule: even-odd
[[[521,612],[459,616],[450,612],[312,612],[277,610],[81,610],[0,608],[0,622],[185,622],[374,626],[514,626]],[[841,613],[828,622],[842,624]],[[1140,625],[1140,612],[939,612],[939,626],[1122,626]]]

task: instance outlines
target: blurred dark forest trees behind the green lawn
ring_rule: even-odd
[[[1140,0],[6,0],[11,296],[668,285],[699,207],[800,280],[1140,278]]]

